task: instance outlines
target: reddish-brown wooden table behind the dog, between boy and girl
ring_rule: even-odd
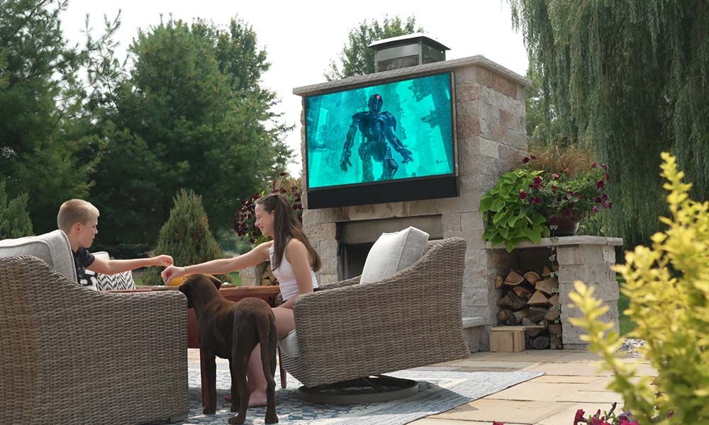
[[[113,293],[140,293],[152,292],[157,290],[177,290],[177,286],[143,286],[135,289],[127,290],[112,290]],[[220,288],[219,293],[227,300],[239,301],[247,297],[260,298],[273,306],[276,296],[279,294],[278,286],[235,286],[231,288]],[[202,358],[202,349],[199,346],[199,326],[197,316],[194,313],[194,308],[187,310],[187,348],[199,348],[199,365],[202,381],[202,404],[206,402],[206,381],[204,379],[204,362]],[[279,353],[280,356],[280,353]],[[280,364],[280,362],[279,362]],[[281,388],[286,387],[286,371],[283,366],[280,366]]]

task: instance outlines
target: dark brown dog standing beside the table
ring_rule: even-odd
[[[180,292],[187,297],[187,307],[194,307],[199,322],[199,344],[207,382],[204,414],[216,412],[215,356],[228,358],[231,371],[231,411],[239,412],[229,424],[243,424],[249,406],[246,370],[249,356],[261,344],[261,362],[266,377],[266,423],[278,422],[276,415],[276,318],[264,300],[245,298],[239,302],[226,300],[218,288],[221,282],[209,275],[186,278]]]

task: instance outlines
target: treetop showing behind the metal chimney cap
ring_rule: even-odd
[[[340,63],[330,61],[330,72],[325,73],[325,78],[333,81],[374,73],[374,50],[367,46],[376,40],[412,33],[423,33],[423,27],[416,26],[416,18],[413,15],[406,18],[406,22],[401,21],[398,16],[393,19],[385,16],[381,23],[367,20],[360,22],[347,36],[347,44],[342,47],[337,60]]]

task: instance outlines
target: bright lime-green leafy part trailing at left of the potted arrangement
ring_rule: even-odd
[[[538,243],[549,234],[547,220],[539,208],[530,203],[525,192],[542,171],[517,169],[508,171],[480,199],[484,213],[484,239],[505,244],[508,252],[525,240]]]

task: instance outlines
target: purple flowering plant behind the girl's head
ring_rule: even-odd
[[[279,174],[268,191],[254,193],[250,198],[242,200],[240,208],[234,213],[234,231],[250,244],[258,245],[268,240],[256,227],[256,201],[267,193],[281,193],[293,207],[296,217],[303,222],[303,204],[301,203],[301,180],[294,179],[286,173]]]

